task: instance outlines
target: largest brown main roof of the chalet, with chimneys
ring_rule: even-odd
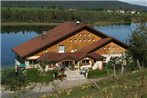
[[[80,23],[76,25],[75,22],[65,22],[49,30],[43,39],[42,36],[35,37],[25,43],[16,46],[12,50],[22,58],[31,56],[33,53],[43,50],[46,47],[52,46],[83,28],[87,28],[97,35],[101,35],[103,38],[107,37],[107,35],[103,34],[102,32],[96,31],[95,29],[92,29],[85,24]]]

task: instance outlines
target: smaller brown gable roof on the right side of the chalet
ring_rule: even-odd
[[[100,40],[98,40],[98,41],[96,41],[96,42],[82,48],[80,51],[84,52],[84,53],[91,53],[91,52],[94,52],[95,50],[105,46],[106,44],[108,44],[110,42],[115,42],[115,43],[119,44],[120,46],[128,49],[128,45],[122,43],[121,41],[118,41],[115,38],[108,37],[108,38],[100,39]]]

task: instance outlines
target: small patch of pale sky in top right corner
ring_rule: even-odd
[[[136,4],[136,5],[147,6],[147,0],[119,0],[119,1]]]

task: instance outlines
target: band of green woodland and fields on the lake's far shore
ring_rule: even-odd
[[[3,22],[52,22],[61,23],[80,19],[84,23],[113,22],[130,23],[147,21],[147,13],[140,14],[92,11],[84,9],[64,8],[20,8],[2,7],[1,21]]]

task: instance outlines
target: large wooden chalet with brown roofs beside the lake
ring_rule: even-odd
[[[40,66],[46,69],[56,66],[102,69],[103,62],[121,56],[128,46],[92,27],[80,22],[65,22],[12,50],[17,66]]]

